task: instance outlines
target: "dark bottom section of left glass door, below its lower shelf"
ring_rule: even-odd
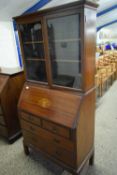
[[[26,61],[27,78],[29,80],[47,82],[45,61]]]

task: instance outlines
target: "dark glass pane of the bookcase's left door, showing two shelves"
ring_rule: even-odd
[[[41,21],[20,24],[24,64],[28,80],[47,82]]]

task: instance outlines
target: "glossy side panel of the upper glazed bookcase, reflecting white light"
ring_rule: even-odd
[[[84,9],[83,91],[95,86],[96,10]]]

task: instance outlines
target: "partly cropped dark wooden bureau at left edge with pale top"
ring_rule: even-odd
[[[20,135],[17,103],[24,84],[20,68],[0,69],[0,136],[13,143]]]

